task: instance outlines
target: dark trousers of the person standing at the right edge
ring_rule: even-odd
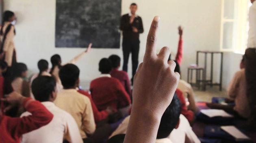
[[[251,108],[249,125],[256,128],[256,49],[245,51],[245,77],[247,82],[246,94]]]

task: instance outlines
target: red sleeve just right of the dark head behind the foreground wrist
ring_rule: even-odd
[[[182,91],[176,89],[176,95],[180,99],[181,114],[184,115],[187,118],[187,120],[189,120],[189,123],[192,123],[194,120],[194,113],[193,113],[193,111],[187,109],[186,101],[185,101]]]

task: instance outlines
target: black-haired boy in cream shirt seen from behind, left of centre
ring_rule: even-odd
[[[82,139],[95,131],[95,122],[90,99],[76,90],[79,85],[80,70],[76,65],[67,64],[61,67],[59,76],[64,89],[57,94],[54,103],[67,111],[76,120]]]

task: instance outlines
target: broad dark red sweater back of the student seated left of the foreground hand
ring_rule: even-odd
[[[108,106],[120,109],[131,103],[124,86],[116,78],[97,78],[91,82],[90,91],[93,101],[100,111],[105,110]]]

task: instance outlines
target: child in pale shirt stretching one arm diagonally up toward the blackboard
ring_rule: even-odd
[[[82,53],[80,53],[79,55],[77,55],[76,57],[74,57],[71,61],[69,61],[68,63],[72,63],[75,64],[79,59],[81,59],[86,53],[89,53],[91,51],[91,46],[92,43],[89,44],[88,48],[83,51]],[[66,64],[62,64],[62,60],[61,60],[61,56],[58,54],[55,54],[51,57],[51,63],[52,63],[52,68],[50,70],[50,74],[52,74],[52,76],[54,76],[54,78],[56,79],[57,82],[57,91],[59,92],[63,86],[61,84],[61,80],[59,78],[59,70],[63,65]]]

